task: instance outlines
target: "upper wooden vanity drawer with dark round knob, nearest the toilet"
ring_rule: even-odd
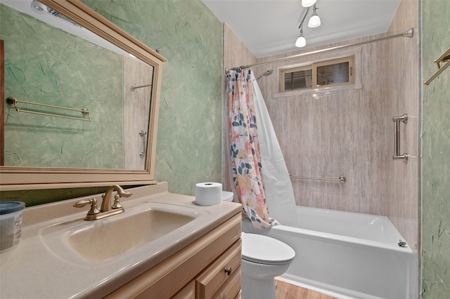
[[[197,299],[210,299],[224,286],[238,271],[240,276],[240,248],[241,240],[238,239],[217,260],[207,267],[195,279],[195,297]],[[239,282],[240,288],[240,282]]]

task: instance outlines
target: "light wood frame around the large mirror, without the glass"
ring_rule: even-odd
[[[72,187],[96,187],[105,185],[149,185],[155,184],[155,148],[158,131],[159,98],[162,79],[162,65],[167,61],[127,32],[117,27],[103,16],[78,0],[40,0],[74,20],[98,36],[115,44],[154,67],[153,92],[150,98],[150,117],[148,124],[148,151],[146,169],[85,169],[85,168],[41,168],[0,166],[0,190],[32,190]],[[4,101],[1,101],[1,113]],[[1,135],[4,135],[3,132]]]

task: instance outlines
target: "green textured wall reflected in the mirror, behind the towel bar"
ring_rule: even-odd
[[[0,5],[5,95],[89,109],[91,122],[16,112],[5,105],[5,165],[123,168],[122,56]],[[105,105],[105,103],[108,103]],[[26,105],[44,113],[81,112]],[[97,142],[102,140],[102,142]]]

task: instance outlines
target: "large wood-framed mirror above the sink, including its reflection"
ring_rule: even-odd
[[[0,190],[155,183],[167,60],[78,0],[0,8]]]

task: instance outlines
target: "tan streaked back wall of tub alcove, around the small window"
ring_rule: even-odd
[[[378,75],[385,61],[377,61],[384,48],[383,44],[367,44],[264,65],[275,72],[273,77],[260,79],[259,86],[290,174],[315,178],[344,175],[347,179],[345,183],[293,179],[297,205],[385,213],[381,202],[387,196],[383,169],[392,150],[387,148],[385,136],[390,125],[385,117],[386,99],[379,96],[378,89],[385,85],[383,76]],[[361,57],[356,71],[363,88],[277,96],[279,67],[353,54]]]

